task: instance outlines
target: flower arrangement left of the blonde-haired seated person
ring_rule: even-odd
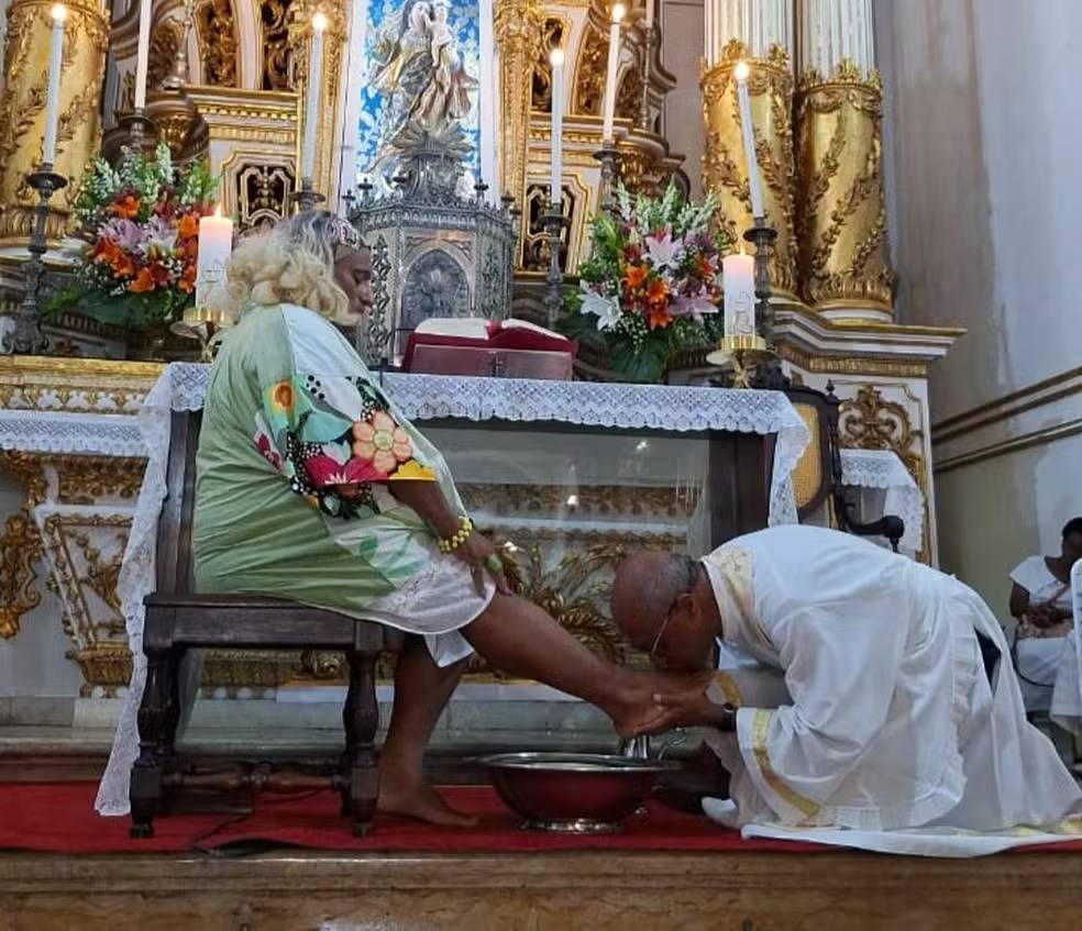
[[[49,309],[137,329],[176,320],[194,300],[199,219],[216,188],[205,162],[177,170],[165,144],[153,158],[125,148],[117,168],[97,158],[75,206],[88,242],[78,282]]]

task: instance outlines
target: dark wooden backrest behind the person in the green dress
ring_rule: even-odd
[[[157,530],[157,591],[191,591],[191,521],[196,510],[199,411],[174,411],[169,429],[165,501]]]

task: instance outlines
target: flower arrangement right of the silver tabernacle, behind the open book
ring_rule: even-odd
[[[593,248],[578,269],[562,329],[600,339],[614,370],[659,381],[681,350],[721,334],[721,253],[710,230],[715,198],[685,202],[672,181],[663,197],[632,199],[617,187],[618,213],[594,220]]]

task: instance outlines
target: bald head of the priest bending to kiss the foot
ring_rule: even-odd
[[[721,617],[702,563],[680,553],[636,553],[616,570],[612,618],[658,665],[710,667]]]

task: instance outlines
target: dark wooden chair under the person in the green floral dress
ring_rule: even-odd
[[[352,813],[353,833],[372,828],[379,791],[375,735],[379,724],[375,666],[380,652],[401,649],[399,631],[334,611],[247,595],[197,595],[191,590],[191,522],[195,510],[199,413],[174,412],[167,496],[157,534],[157,587],[147,596],[143,652],[146,688],[139,710],[140,754],[131,774],[131,835],[150,838],[167,795],[183,788],[295,791],[328,784]],[[178,673],[189,649],[290,650],[345,653],[350,687],[342,720],[345,751],[330,777],[274,772],[269,764],[238,774],[196,774],[176,752],[180,719]]]

